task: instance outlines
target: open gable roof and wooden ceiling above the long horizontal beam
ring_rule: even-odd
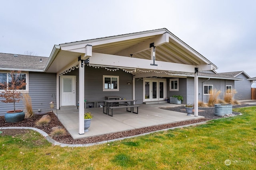
[[[130,58],[132,54],[132,58],[151,60],[150,43],[153,42],[156,47],[156,61],[193,66],[212,64],[213,69],[217,68],[167,29],[157,29],[56,45],[50,56],[46,72],[61,72],[71,65],[78,64],[78,57],[85,53],[86,45],[92,45],[93,53]],[[145,73],[151,69],[141,70]],[[168,70],[166,71],[168,72]],[[139,73],[138,71],[133,74]]]

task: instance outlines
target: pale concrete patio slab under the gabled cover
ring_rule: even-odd
[[[141,104],[139,114],[130,113],[125,108],[115,109],[113,117],[103,113],[103,108],[86,108],[85,112],[90,111],[94,117],[88,132],[80,135],[78,133],[78,109],[58,110],[58,119],[68,130],[73,139],[98,136],[118,131],[127,131],[136,128],[148,127],[203,118],[187,116],[186,113],[160,109],[159,107],[177,107],[183,105],[176,104]]]

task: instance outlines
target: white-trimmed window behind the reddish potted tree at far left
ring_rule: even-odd
[[[17,90],[17,91],[28,91],[28,73],[20,73],[20,75],[18,76],[18,80],[24,80],[24,82],[26,83],[26,86],[24,86],[21,90]],[[0,72],[0,83],[5,84],[6,82],[11,83],[12,81],[12,77],[10,72]],[[10,84],[11,85],[11,84]],[[10,86],[9,85],[9,86]],[[0,87],[0,92],[4,91],[1,87]]]

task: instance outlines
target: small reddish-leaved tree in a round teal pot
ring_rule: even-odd
[[[9,81],[5,83],[0,83],[0,89],[4,91],[0,94],[1,98],[5,98],[5,100],[0,100],[4,103],[13,103],[13,110],[7,111],[4,115],[6,122],[14,123],[18,121],[24,120],[25,113],[23,110],[16,110],[15,103],[20,102],[22,98],[21,92],[18,90],[22,90],[24,86],[26,86],[26,82],[20,76],[21,71],[11,71],[9,76]]]

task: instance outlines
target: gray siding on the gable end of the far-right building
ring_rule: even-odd
[[[236,78],[241,78],[242,80],[235,80],[233,89],[236,90],[234,98],[236,100],[250,100],[251,99],[251,81],[247,80],[244,74],[239,74]]]

